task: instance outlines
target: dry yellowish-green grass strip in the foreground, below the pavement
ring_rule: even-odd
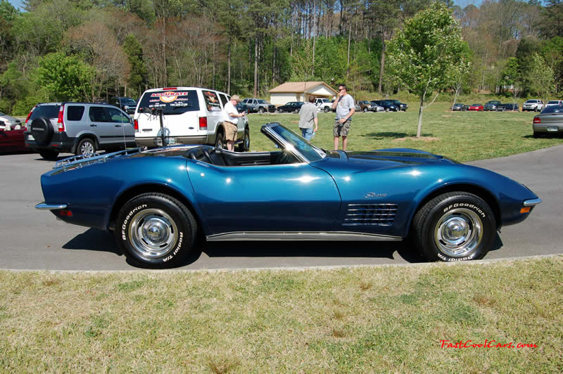
[[[0,284],[5,373],[563,370],[563,257],[308,271],[0,271]]]

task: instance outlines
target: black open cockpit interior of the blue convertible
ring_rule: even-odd
[[[236,153],[214,148],[199,146],[191,148],[184,155],[192,160],[198,160],[217,166],[258,166],[258,165],[284,165],[294,164],[299,160],[285,150],[274,152]]]

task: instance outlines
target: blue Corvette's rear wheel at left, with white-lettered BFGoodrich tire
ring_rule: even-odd
[[[115,239],[134,264],[167,268],[186,259],[196,231],[196,220],[182,202],[163,193],[144,193],[123,205]]]

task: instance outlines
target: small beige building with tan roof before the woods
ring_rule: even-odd
[[[284,105],[289,101],[308,101],[309,96],[332,100],[337,93],[324,82],[287,82],[270,90],[270,103]]]

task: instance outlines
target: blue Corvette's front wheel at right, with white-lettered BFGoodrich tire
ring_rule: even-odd
[[[481,259],[493,245],[491,207],[472,193],[444,193],[427,202],[413,219],[413,236],[429,261]]]

